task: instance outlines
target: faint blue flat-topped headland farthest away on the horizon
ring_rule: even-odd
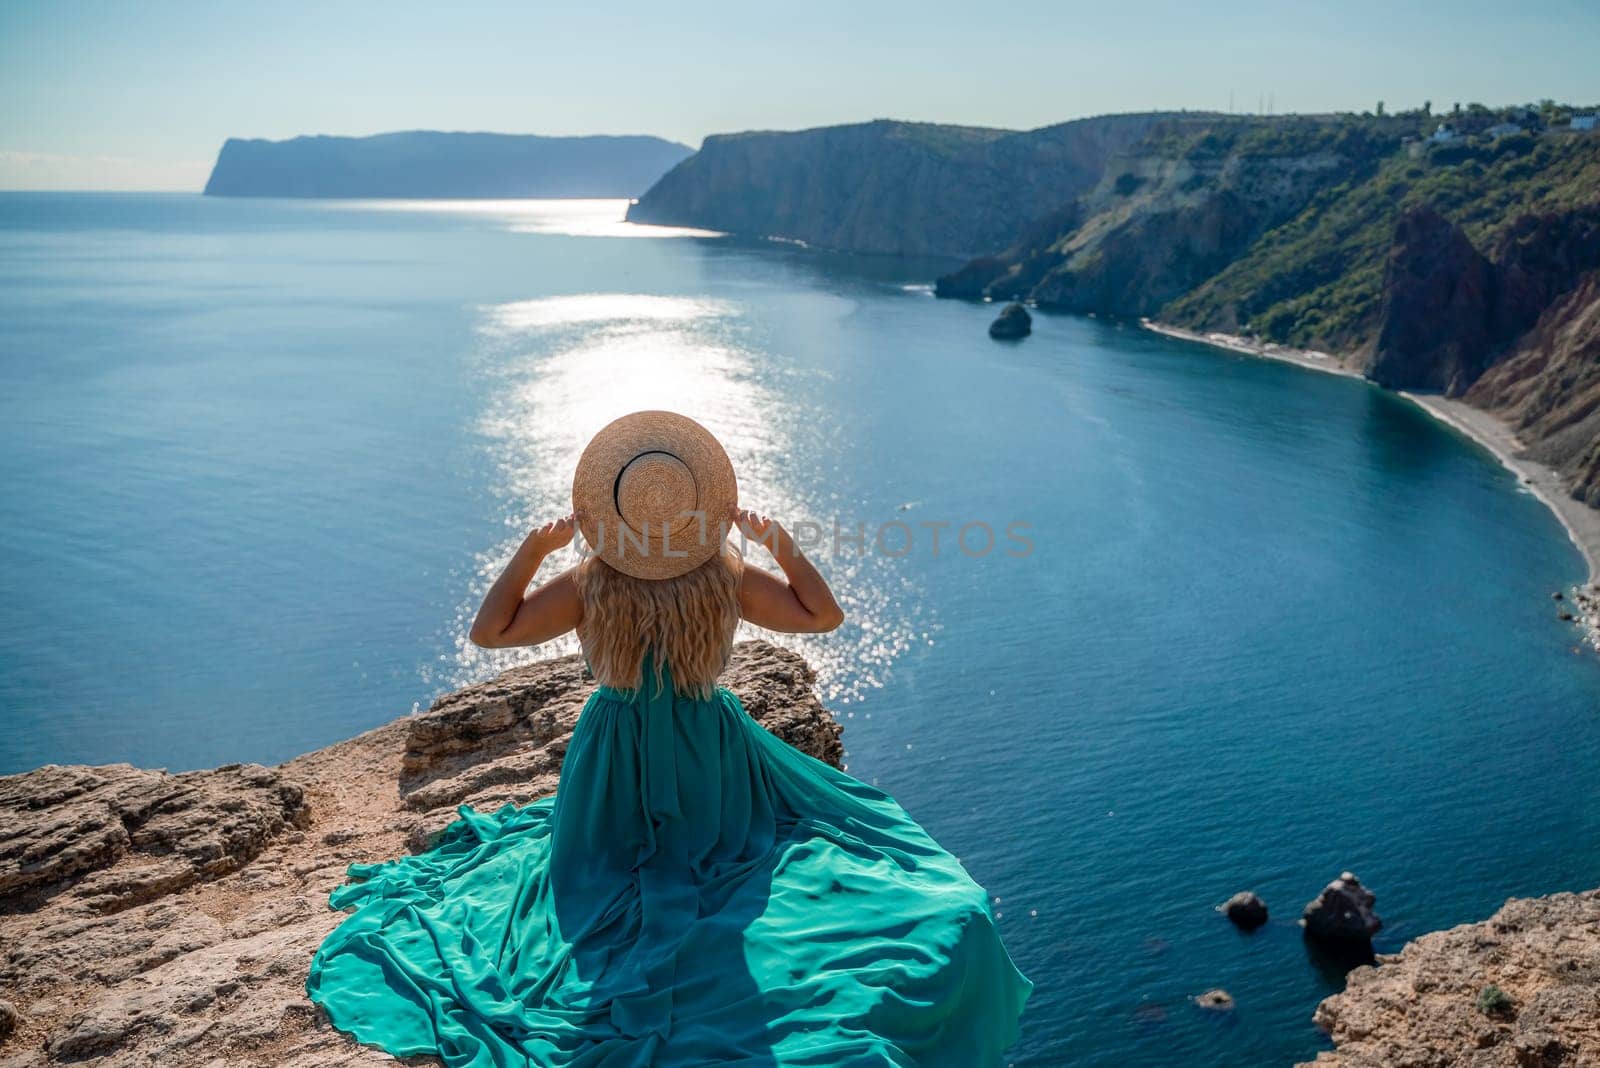
[[[693,155],[648,136],[413,130],[371,137],[229,137],[208,197],[637,197]]]

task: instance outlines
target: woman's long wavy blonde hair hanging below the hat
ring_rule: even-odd
[[[578,643],[595,681],[638,689],[650,652],[658,687],[667,667],[674,691],[710,697],[733,652],[742,574],[744,558],[728,544],[672,579],[635,579],[597,555],[584,558],[576,571],[584,606]]]

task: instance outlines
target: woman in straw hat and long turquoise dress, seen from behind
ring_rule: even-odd
[[[739,619],[827,632],[827,582],[699,424],[634,412],[584,449],[472,641],[578,632],[598,687],[554,798],[462,809],[427,854],[357,865],[307,990],[336,1026],[446,1065],[987,1068],[1032,982],[987,895],[886,793],[717,686]],[[784,580],[742,566],[730,521]],[[574,528],[592,550],[533,590]]]

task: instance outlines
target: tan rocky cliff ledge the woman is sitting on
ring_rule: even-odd
[[[749,641],[723,684],[837,766],[840,727],[813,679],[795,654]],[[310,954],[342,918],[328,894],[350,863],[426,846],[459,804],[552,793],[589,691],[565,657],[282,767],[0,779],[0,1063],[394,1063],[306,999]]]

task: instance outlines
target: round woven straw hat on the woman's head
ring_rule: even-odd
[[[670,579],[710,560],[738,502],[722,444],[670,411],[635,411],[606,424],[573,475],[584,540],[635,579]]]

